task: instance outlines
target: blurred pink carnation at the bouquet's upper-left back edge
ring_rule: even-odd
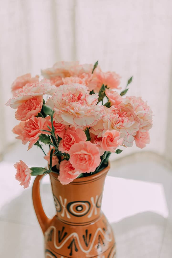
[[[17,77],[11,85],[12,92],[23,88],[27,83],[36,83],[39,80],[39,76],[31,77],[31,74],[24,74],[20,77]]]

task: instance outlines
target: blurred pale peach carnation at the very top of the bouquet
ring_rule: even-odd
[[[71,68],[75,67],[79,64],[79,62],[57,62],[53,65],[53,67],[41,70],[41,74],[46,79],[52,79],[54,77],[58,77],[59,79],[62,77],[70,77]]]

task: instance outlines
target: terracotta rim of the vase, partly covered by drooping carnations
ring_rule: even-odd
[[[69,184],[76,184],[76,183],[81,183],[81,182],[88,182],[88,181],[93,181],[95,179],[98,179],[104,175],[107,174],[108,170],[110,168],[110,163],[108,164],[107,167],[105,167],[104,169],[102,169],[100,172],[90,175],[90,176],[85,176],[85,177],[81,177],[81,178],[75,178],[71,183]],[[59,174],[51,172],[51,175],[55,178],[57,178],[59,176]]]

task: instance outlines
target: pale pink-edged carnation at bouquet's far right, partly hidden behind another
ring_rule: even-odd
[[[131,103],[140,121],[140,131],[147,132],[152,127],[152,110],[140,97],[126,97],[124,103]]]

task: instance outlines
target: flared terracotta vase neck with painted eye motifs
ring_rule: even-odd
[[[108,168],[94,176],[75,179],[62,185],[55,173],[50,174],[57,216],[69,224],[87,224],[98,219]]]

